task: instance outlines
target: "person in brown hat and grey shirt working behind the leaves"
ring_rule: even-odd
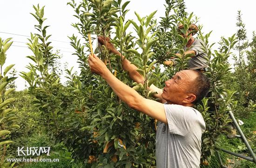
[[[181,29],[183,28],[184,28],[183,25],[179,23],[178,30],[180,31],[181,35],[183,37],[189,38],[187,45],[183,48],[186,51],[185,55],[194,54],[194,56],[191,56],[191,59],[189,60],[189,69],[204,70],[207,67],[207,60],[205,59],[206,53],[202,50],[202,44],[204,44],[204,42],[201,39],[193,38],[193,35],[195,35],[196,32],[198,32],[198,28],[194,24],[191,24],[189,26],[189,31],[186,34],[183,34],[181,32]],[[182,57],[182,55],[179,53],[176,53],[176,55],[178,57]],[[168,61],[165,61],[164,64],[170,65],[170,66],[175,65],[175,59],[170,59]]]

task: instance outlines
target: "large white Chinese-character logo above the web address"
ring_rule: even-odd
[[[50,147],[18,147],[18,156],[29,156],[29,155],[41,155],[41,154],[46,154],[49,156],[50,154]]]

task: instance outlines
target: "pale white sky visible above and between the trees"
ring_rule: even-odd
[[[80,0],[75,0],[77,3]],[[124,1],[124,0],[123,0]],[[67,36],[78,35],[77,31],[71,26],[76,22],[73,16],[73,8],[67,6],[69,0],[0,0],[0,37],[2,39],[13,38],[13,45],[7,51],[7,65],[15,64],[18,78],[15,80],[17,90],[25,89],[25,80],[19,77],[20,71],[28,71],[25,67],[30,62],[26,56],[32,55],[27,48],[27,36],[30,32],[36,33],[34,25],[36,19],[30,14],[34,13],[33,5],[45,6],[47,18],[44,25],[49,25],[47,34],[52,34],[50,40],[52,46],[59,49],[62,54],[61,68],[68,63],[68,68],[74,66],[75,71],[79,71],[76,63],[77,57],[72,55],[74,49],[69,45]],[[155,18],[164,16],[165,0],[130,0],[127,9],[127,19],[136,19],[134,11],[142,16],[157,10]],[[256,23],[253,11],[255,10],[255,0],[185,0],[187,12],[193,12],[199,17],[199,24],[203,25],[202,32],[211,33],[209,42],[217,43],[222,36],[230,37],[236,33],[237,11],[241,10],[243,22],[246,25],[247,36],[249,39],[252,32],[256,31]],[[217,45],[214,46],[217,48]],[[62,77],[62,82],[65,78]]]

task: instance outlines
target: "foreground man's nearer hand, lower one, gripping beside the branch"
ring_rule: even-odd
[[[104,72],[108,71],[107,66],[95,54],[94,56],[92,56],[91,54],[89,55],[88,63],[91,71],[96,74],[99,74],[102,76]]]

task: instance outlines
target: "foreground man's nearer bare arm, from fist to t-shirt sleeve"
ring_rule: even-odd
[[[109,86],[115,91],[115,94],[122,101],[127,103],[129,107],[141,111],[148,116],[157,119],[158,121],[167,123],[164,106],[162,103],[142,97],[134,89],[115,78],[115,76],[108,70],[106,65],[97,56],[89,55],[88,62],[91,71],[101,75],[102,78],[104,78]]]

